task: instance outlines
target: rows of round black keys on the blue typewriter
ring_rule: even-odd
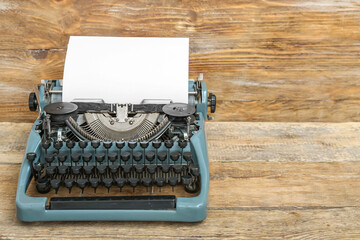
[[[37,156],[40,155],[40,156]],[[57,193],[73,188],[83,193],[103,186],[119,191],[130,186],[146,191],[183,185],[189,193],[200,186],[200,169],[187,141],[151,142],[50,142],[41,144],[41,154],[27,153],[39,193]]]

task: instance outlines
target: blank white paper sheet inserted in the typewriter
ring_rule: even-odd
[[[70,37],[63,101],[188,102],[188,38]],[[154,101],[153,101],[154,102]]]

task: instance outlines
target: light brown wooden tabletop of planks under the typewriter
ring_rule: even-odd
[[[0,123],[0,239],[360,238],[360,123],[207,123],[200,223],[20,222],[15,193],[30,127]]]

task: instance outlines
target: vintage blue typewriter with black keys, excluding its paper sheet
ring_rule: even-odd
[[[189,80],[189,103],[62,102],[62,80],[29,96],[38,109],[17,188],[22,221],[201,221],[209,167],[204,122],[216,97]]]

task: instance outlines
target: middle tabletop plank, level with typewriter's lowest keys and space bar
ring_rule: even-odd
[[[334,163],[224,163],[210,164],[209,207],[344,207],[360,206],[359,167],[354,162]],[[0,193],[2,202],[8,208],[15,204],[15,190],[20,165],[0,165]],[[35,185],[28,190],[31,196],[36,193]],[[113,187],[108,194],[100,189],[98,194],[105,196],[124,195]],[[144,189],[125,188],[127,195],[144,195]],[[186,196],[183,189],[176,188],[177,195]],[[170,188],[154,195],[172,194]],[[69,194],[62,189],[57,196],[92,196],[92,189],[84,194],[74,187]],[[50,192],[44,196],[53,197]]]

